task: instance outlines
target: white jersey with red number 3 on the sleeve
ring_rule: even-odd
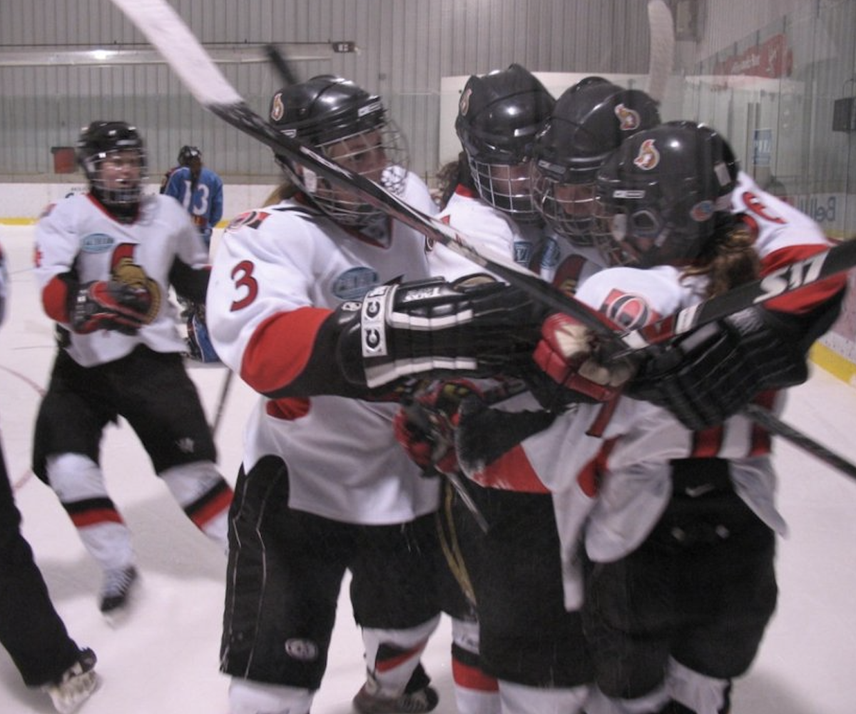
[[[436,213],[428,189],[407,177],[404,201]],[[244,213],[224,233],[207,299],[211,339],[223,362],[259,393],[287,384],[313,353],[319,321],[377,285],[429,275],[425,238],[392,221],[372,240],[344,231],[296,201]],[[311,396],[259,400],[247,423],[244,466],[266,454],[288,465],[289,505],[364,525],[401,523],[439,502],[427,479],[395,441],[398,405]]]

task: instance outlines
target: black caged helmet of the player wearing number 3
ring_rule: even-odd
[[[270,124],[392,193],[401,194],[404,189],[409,164],[404,139],[389,119],[383,100],[353,81],[318,75],[283,87],[270,100]],[[360,171],[355,159],[377,151],[385,157],[383,170],[378,171],[376,165],[371,171]],[[343,197],[341,190],[306,167],[298,168],[280,154],[276,154],[276,160],[300,189],[337,222],[365,226],[383,217],[379,209],[356,201],[354,195]]]

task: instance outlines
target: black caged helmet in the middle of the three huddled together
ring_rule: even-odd
[[[557,235],[591,245],[597,169],[621,142],[660,123],[645,92],[586,77],[556,100],[532,149],[535,207]]]

